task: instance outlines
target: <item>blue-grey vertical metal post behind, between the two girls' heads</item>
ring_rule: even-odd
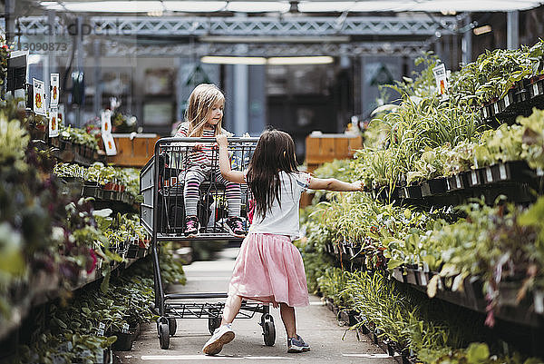
[[[234,65],[234,131],[236,136],[248,133],[248,64]]]

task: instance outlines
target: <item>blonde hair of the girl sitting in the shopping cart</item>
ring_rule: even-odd
[[[215,84],[199,84],[190,93],[189,107],[185,111],[185,121],[189,123],[188,136],[200,137],[206,125],[207,116],[216,103],[225,103],[225,95]],[[215,125],[215,135],[221,133],[221,119]]]

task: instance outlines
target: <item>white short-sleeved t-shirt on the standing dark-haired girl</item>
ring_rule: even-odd
[[[304,172],[279,172],[279,179],[281,207],[275,198],[272,210],[267,211],[264,219],[256,212],[248,232],[287,235],[291,240],[296,240],[300,236],[298,202],[302,192],[308,188],[310,175]]]

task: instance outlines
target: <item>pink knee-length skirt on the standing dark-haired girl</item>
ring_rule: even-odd
[[[242,242],[228,295],[250,300],[309,305],[306,272],[300,252],[285,235],[251,233]]]

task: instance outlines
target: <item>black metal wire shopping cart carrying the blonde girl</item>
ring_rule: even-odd
[[[244,171],[258,138],[228,138],[231,168]],[[153,259],[153,277],[155,301],[153,310],[159,316],[157,330],[161,349],[168,349],[170,336],[177,330],[176,319],[208,319],[210,334],[219,327],[221,314],[225,307],[224,300],[209,302],[204,299],[226,299],[227,293],[165,293],[160,277],[159,248],[167,241],[236,241],[228,233],[225,225],[228,216],[225,187],[216,183],[214,173],[208,181],[200,184],[198,216],[201,229],[196,237],[188,238],[183,234],[185,210],[183,204],[184,173],[191,165],[191,157],[196,143],[203,143],[212,149],[211,162],[219,165],[219,150],[215,141],[209,138],[162,138],[155,144],[153,157],[141,169],[140,191],[141,224],[151,235],[151,255]],[[194,159],[192,159],[194,161]],[[241,185],[242,212],[244,227],[248,231],[248,187]],[[190,301],[194,300],[194,301]],[[274,345],[276,329],[269,313],[269,305],[262,302],[243,300],[238,318],[251,319],[261,313],[259,325],[267,346]]]

